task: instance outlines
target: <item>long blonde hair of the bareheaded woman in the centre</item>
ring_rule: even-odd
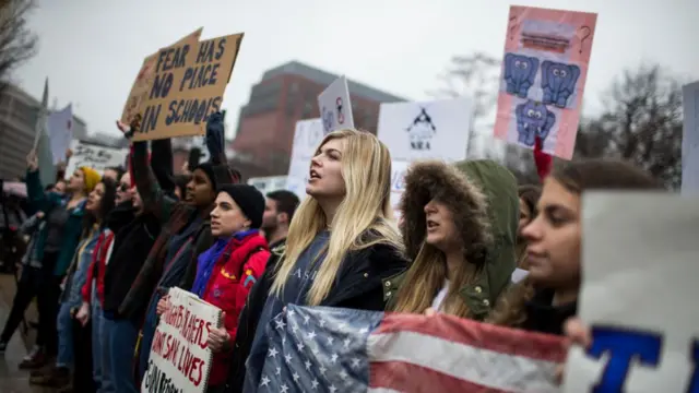
[[[320,204],[306,198],[298,206],[286,238],[271,294],[280,296],[298,260],[313,238],[331,226],[327,257],[308,293],[308,305],[318,306],[328,296],[345,254],[376,243],[386,243],[403,252],[403,245],[393,223],[391,207],[391,154],[375,135],[352,129],[333,131],[317,148],[331,140],[343,140],[342,177],[345,196],[337,206],[332,223],[327,222]],[[371,236],[366,235],[367,231]],[[318,257],[318,255],[315,255]]]

